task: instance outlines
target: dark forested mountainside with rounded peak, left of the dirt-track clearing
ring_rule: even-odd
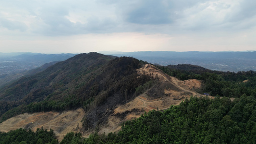
[[[0,90],[1,121],[25,112],[84,108],[85,130],[95,129],[110,113],[108,108],[135,95],[150,76],[136,69],[143,61],[98,53],[79,54],[43,72],[24,76]]]

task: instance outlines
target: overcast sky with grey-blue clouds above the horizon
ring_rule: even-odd
[[[1,0],[0,52],[256,50],[256,0]]]

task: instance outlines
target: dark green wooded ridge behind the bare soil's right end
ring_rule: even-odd
[[[180,80],[202,80],[204,86],[199,92],[208,93],[211,96],[240,97],[243,94],[256,96],[256,72],[254,71],[219,72],[186,64],[157,67]]]

